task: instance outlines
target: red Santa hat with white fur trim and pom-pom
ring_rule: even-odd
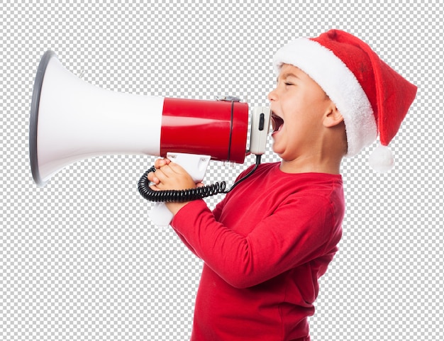
[[[342,30],[329,30],[317,38],[292,40],[274,55],[279,72],[283,64],[299,67],[321,86],[335,103],[345,123],[348,157],[376,140],[370,165],[379,172],[393,167],[387,147],[399,130],[416,86],[383,62],[359,38]]]

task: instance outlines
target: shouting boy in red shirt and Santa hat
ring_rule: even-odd
[[[379,133],[384,147],[372,164],[391,167],[387,145],[416,95],[416,86],[340,30],[293,40],[274,66],[268,99],[282,161],[261,164],[213,211],[202,200],[167,203],[172,228],[204,260],[192,340],[310,340],[318,278],[342,235],[340,162]],[[170,160],[155,167],[152,189],[196,186]]]

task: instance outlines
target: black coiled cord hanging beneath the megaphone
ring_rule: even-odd
[[[148,174],[155,172],[155,167],[151,167],[143,173],[142,177],[140,177],[140,180],[138,181],[138,191],[141,196],[143,196],[144,199],[147,199],[149,201],[154,202],[177,202],[177,203],[183,203],[186,201],[193,201],[197,199],[206,198],[208,196],[214,196],[219,193],[227,194],[229,191],[235,188],[235,186],[238,186],[240,182],[244,181],[250,175],[255,172],[257,167],[260,164],[260,157],[261,155],[256,155],[256,164],[255,167],[251,169],[251,171],[245,175],[242,179],[239,179],[238,181],[231,186],[231,189],[228,189],[226,191],[226,182],[216,182],[215,184],[207,185],[207,186],[201,186],[196,187],[194,189],[182,189],[182,190],[176,190],[176,189],[170,189],[166,191],[154,191],[150,189],[150,180],[148,180]]]

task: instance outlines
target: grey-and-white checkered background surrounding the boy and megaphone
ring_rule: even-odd
[[[43,189],[33,183],[28,116],[46,50],[107,89],[230,94],[256,106],[267,104],[274,85],[277,48],[329,28],[367,41],[418,86],[418,96],[391,144],[392,172],[372,172],[371,148],[343,163],[344,236],[321,279],[311,335],[443,340],[438,1],[61,2],[1,1],[1,340],[187,340],[199,282],[201,262],[171,230],[151,225],[150,203],[137,192],[154,157],[96,157],[63,169]],[[252,162],[213,162],[206,182],[231,183]]]

